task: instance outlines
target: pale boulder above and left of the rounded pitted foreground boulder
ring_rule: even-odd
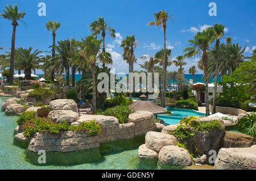
[[[174,136],[166,133],[147,132],[145,144],[148,149],[159,152],[163,146],[176,145],[177,140]]]

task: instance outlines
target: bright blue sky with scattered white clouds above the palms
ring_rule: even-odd
[[[46,16],[38,15],[38,3],[46,3]],[[209,3],[217,4],[217,16],[209,16]],[[153,14],[165,10],[171,15],[171,22],[167,27],[167,46],[172,49],[172,58],[182,55],[196,31],[212,26],[214,23],[224,24],[226,36],[232,37],[242,47],[247,46],[245,56],[250,56],[251,50],[256,48],[256,1],[255,0],[109,0],[109,1],[6,1],[1,0],[0,10],[6,5],[18,5],[19,11],[25,11],[26,26],[19,23],[16,30],[16,47],[33,47],[42,51],[49,51],[52,44],[51,33],[46,31],[48,20],[61,23],[57,31],[56,40],[82,37],[90,35],[89,24],[102,16],[117,32],[117,39],[106,38],[108,51],[112,53],[115,72],[127,72],[128,65],[122,60],[120,41],[126,36],[135,35],[138,47],[135,55],[153,56],[163,46],[163,31],[160,28],[148,27],[153,20]],[[11,46],[12,26],[8,20],[0,18],[0,47],[9,50]],[[4,53],[0,50],[0,53]],[[186,59],[185,71],[192,65],[197,65],[199,57]],[[138,59],[135,70],[139,70],[142,60]],[[177,70],[172,65],[168,70]],[[42,73],[42,71],[37,71]],[[199,71],[199,73],[201,73]]]

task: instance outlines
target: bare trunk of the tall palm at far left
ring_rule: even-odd
[[[11,61],[10,61],[10,80],[11,84],[14,83],[14,55],[15,55],[15,35],[16,35],[16,23],[13,23],[13,36],[11,37]]]

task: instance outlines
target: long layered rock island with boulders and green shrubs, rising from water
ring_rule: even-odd
[[[47,156],[47,163],[60,163],[59,159],[71,153],[87,155],[79,163],[95,161],[101,158],[101,144],[131,140],[156,129],[151,112],[131,112],[126,120],[121,121],[117,119],[118,116],[79,116],[75,101],[70,99],[51,101],[47,117],[38,114],[41,107],[29,109],[18,119],[14,143],[23,148],[28,145],[27,159],[34,164],[37,164],[39,150],[51,155],[49,158]],[[71,162],[78,163],[77,159],[67,163]]]

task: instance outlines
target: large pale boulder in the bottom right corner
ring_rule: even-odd
[[[215,170],[256,170],[256,145],[249,148],[222,148],[218,151]]]

